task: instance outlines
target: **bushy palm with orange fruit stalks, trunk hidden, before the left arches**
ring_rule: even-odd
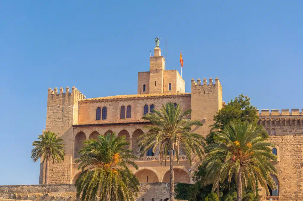
[[[79,150],[82,156],[75,162],[82,173],[75,182],[77,197],[89,200],[130,200],[134,201],[139,191],[139,181],[128,166],[138,166],[133,162],[137,157],[132,150],[125,149],[129,143],[125,136],[116,137],[114,133],[98,136],[98,140],[84,140]]]

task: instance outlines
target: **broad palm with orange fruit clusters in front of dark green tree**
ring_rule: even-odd
[[[242,199],[242,186],[250,184],[257,188],[256,180],[268,191],[268,185],[275,189],[276,185],[270,174],[276,174],[273,164],[266,160],[277,161],[277,156],[271,153],[274,144],[264,141],[262,129],[248,122],[231,122],[224,130],[216,131],[219,140],[209,144],[205,152],[207,183],[223,181],[228,177],[236,177],[237,201]],[[212,178],[212,179],[211,179]],[[217,179],[219,178],[219,179]],[[213,190],[216,185],[213,185]]]

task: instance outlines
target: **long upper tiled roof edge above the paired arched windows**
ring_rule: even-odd
[[[111,100],[111,99],[124,99],[124,98],[146,98],[146,97],[161,97],[161,96],[184,96],[191,93],[159,93],[159,94],[134,94],[134,95],[118,95],[118,96],[106,96],[98,98],[85,98],[79,101],[98,101],[98,100]]]

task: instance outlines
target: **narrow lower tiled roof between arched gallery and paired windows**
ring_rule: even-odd
[[[101,126],[101,125],[120,125],[120,124],[150,124],[150,121],[144,119],[119,119],[119,120],[101,120],[94,123],[74,124],[74,127],[81,126]]]

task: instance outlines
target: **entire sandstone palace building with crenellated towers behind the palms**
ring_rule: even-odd
[[[135,95],[85,98],[75,87],[72,87],[71,93],[68,87],[65,93],[62,87],[59,93],[57,88],[48,89],[45,130],[58,133],[64,139],[66,151],[65,162],[50,166],[50,184],[66,184],[62,188],[74,188],[69,184],[74,183],[80,173],[78,164],[75,163],[75,159],[79,157],[77,152],[82,147],[83,140],[96,138],[99,134],[113,132],[118,136],[125,135],[133,153],[138,155],[136,138],[147,132],[143,127],[149,124],[142,119],[146,108],[150,112],[152,108],[159,109],[168,102],[179,103],[184,111],[192,110],[192,120],[200,120],[204,124],[192,130],[203,136],[209,133],[214,115],[223,106],[219,79],[216,77],[215,83],[212,78],[209,81],[204,78],[202,83],[200,79],[192,79],[191,93],[185,93],[184,80],[176,70],[165,71],[164,61],[161,50],[155,48],[154,56],[150,57],[149,71],[138,73],[138,94]],[[277,146],[278,162],[275,166],[279,171],[276,175],[277,195],[266,196],[265,190],[259,189],[260,200],[303,200],[302,114],[298,109],[292,109],[291,112],[281,110],[281,113],[279,110],[271,110],[271,113],[269,110],[261,110],[259,117],[259,124],[270,133],[269,141]],[[137,164],[139,170],[133,171],[142,183],[141,197],[148,197],[147,200],[164,200],[166,194],[162,196],[161,193],[166,191],[169,167],[160,166],[158,153],[141,157]],[[194,160],[190,166],[187,157],[181,155],[180,164],[174,162],[175,181],[192,183],[191,176],[198,164],[199,161]],[[44,175],[45,165],[41,163],[40,184],[44,183]],[[0,194],[6,192],[3,191],[5,188],[0,187]],[[50,188],[49,192],[57,191]]]

